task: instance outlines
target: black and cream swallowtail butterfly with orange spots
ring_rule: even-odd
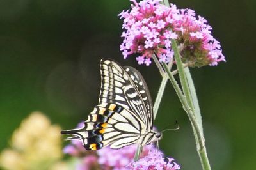
[[[152,99],[140,72],[103,58],[100,74],[99,104],[83,128],[63,130],[61,134],[81,140],[86,150],[105,146],[119,149],[134,143],[145,146],[161,139],[161,133],[153,130]]]

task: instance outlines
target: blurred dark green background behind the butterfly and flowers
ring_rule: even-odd
[[[204,122],[212,169],[256,169],[255,26],[256,1],[172,1],[205,17],[221,42],[227,63],[191,69]],[[122,58],[122,21],[130,2],[118,0],[0,1],[0,150],[33,111],[73,128],[97,104],[101,58],[134,66],[152,98],[161,77],[156,66]],[[155,125],[164,132],[160,147],[182,169],[200,169],[191,126],[168,84]]]

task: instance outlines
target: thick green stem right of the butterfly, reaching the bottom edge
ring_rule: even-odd
[[[198,114],[200,114],[200,112],[198,112],[200,111],[200,109],[195,93],[195,87],[193,85],[189,70],[187,68],[185,69],[182,65],[181,56],[175,40],[172,40],[172,49],[174,51],[176,65],[179,70],[180,83],[182,85],[184,96],[181,89],[179,88],[179,85],[177,84],[177,81],[174,79],[172,73],[170,73],[170,70],[168,70],[166,63],[163,63],[163,67],[164,70],[168,73],[170,81],[172,82],[173,87],[175,88],[175,91],[177,91],[177,95],[180,98],[180,102],[182,103],[184,110],[187,112],[189,120],[191,121],[202,168],[204,170],[211,170],[205,148],[204,134],[202,130],[202,120],[201,116],[198,116]],[[195,105],[196,107],[198,107],[196,108],[196,110]]]

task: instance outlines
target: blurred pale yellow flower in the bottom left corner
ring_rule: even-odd
[[[51,125],[41,112],[33,112],[13,132],[10,149],[0,155],[4,169],[61,169],[63,157],[61,127]]]

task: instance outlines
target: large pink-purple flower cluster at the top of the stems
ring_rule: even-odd
[[[182,61],[189,66],[217,65],[225,61],[220,42],[211,35],[211,26],[190,9],[177,9],[159,3],[161,0],[131,0],[132,10],[119,14],[124,19],[124,41],[120,50],[124,58],[138,53],[138,63],[150,65],[153,54],[160,62],[173,58],[171,39],[177,41]]]

